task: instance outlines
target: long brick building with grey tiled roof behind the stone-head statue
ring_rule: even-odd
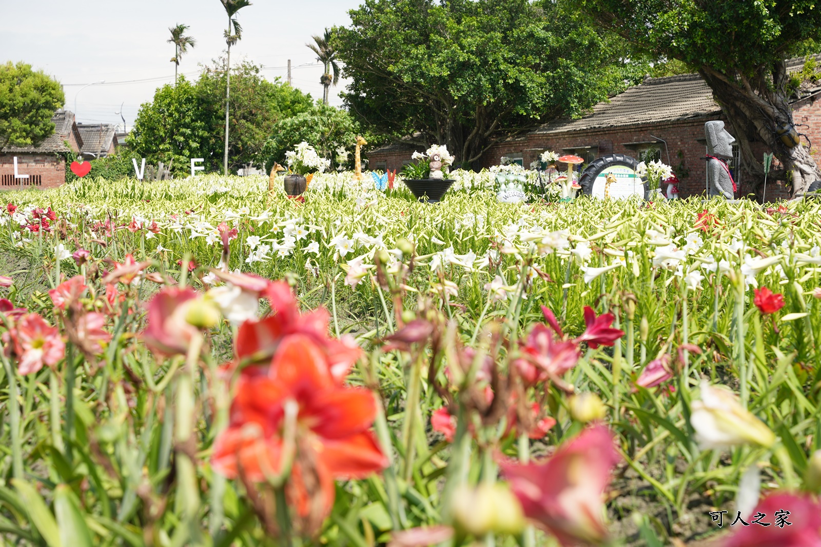
[[[788,63],[791,70],[800,69],[803,59]],[[804,89],[799,99],[792,102],[793,116],[812,145],[810,153],[821,164],[821,86]],[[507,139],[489,148],[476,167],[498,165],[502,157],[522,166],[545,150],[560,154],[572,153],[586,162],[611,153],[623,153],[636,159],[661,159],[673,167],[681,180],[680,196],[703,194],[706,188],[706,139],[704,123],[724,120],[721,107],[713,99],[713,92],[697,74],[647,78],[640,85],[627,89],[609,101],[597,104],[593,111],[579,120],[558,120],[516,139]],[[727,125],[732,133],[732,126]],[[406,144],[378,148],[368,153],[374,169],[401,169],[417,149]],[[756,157],[763,157],[763,143],[753,143]],[[757,180],[741,172],[739,153],[730,162],[740,183],[739,193],[750,194]],[[782,172],[782,171],[781,171]],[[788,197],[783,181],[768,180],[767,198]],[[760,196],[759,196],[760,197]]]

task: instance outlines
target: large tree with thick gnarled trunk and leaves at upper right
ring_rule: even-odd
[[[757,139],[791,174],[794,194],[821,179],[807,148],[788,148],[777,136],[779,128],[793,125],[789,98],[794,86],[785,61],[808,49],[818,52],[818,2],[570,1],[640,51],[695,67],[727,114],[748,171],[764,173],[750,147]]]

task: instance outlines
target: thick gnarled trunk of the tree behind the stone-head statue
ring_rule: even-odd
[[[758,177],[764,175],[762,158],[755,157],[751,147],[751,141],[758,139],[790,173],[793,198],[800,197],[814,180],[821,179],[821,171],[807,148],[801,144],[789,148],[776,134],[778,126],[793,125],[784,62],[773,66],[772,80],[763,73],[751,80],[738,75],[736,80],[735,75],[725,75],[707,66],[702,66],[699,74],[713,89],[716,100],[727,114],[746,171]]]

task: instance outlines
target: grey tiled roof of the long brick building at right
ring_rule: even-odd
[[[564,133],[622,125],[686,120],[721,112],[713,91],[698,74],[648,78],[609,101],[597,104],[580,120],[557,120],[535,134]]]

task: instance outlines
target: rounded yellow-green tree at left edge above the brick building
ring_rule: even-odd
[[[0,148],[38,146],[54,132],[51,119],[66,96],[62,87],[31,65],[0,65]]]

